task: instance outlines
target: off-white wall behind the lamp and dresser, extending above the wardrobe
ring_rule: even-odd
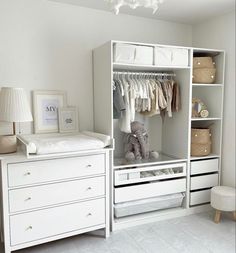
[[[0,0],[0,31],[0,87],[67,90],[82,130],[93,128],[93,48],[111,39],[191,45],[188,25],[47,0]]]

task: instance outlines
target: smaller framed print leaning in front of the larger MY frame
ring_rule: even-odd
[[[58,109],[59,132],[78,132],[78,111],[75,106],[62,107]]]

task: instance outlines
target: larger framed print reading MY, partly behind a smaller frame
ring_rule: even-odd
[[[34,132],[57,133],[58,108],[66,106],[66,92],[33,91]]]

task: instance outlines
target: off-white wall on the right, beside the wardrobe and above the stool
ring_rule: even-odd
[[[226,50],[222,183],[235,186],[235,11],[193,26],[193,45]]]

